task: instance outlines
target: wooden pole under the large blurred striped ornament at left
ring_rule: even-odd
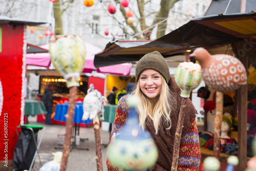
[[[69,89],[70,97],[69,97],[69,109],[67,115],[66,122],[66,136],[63,144],[63,156],[61,159],[60,171],[65,171],[67,168],[69,152],[70,152],[70,144],[72,141],[72,126],[74,120],[74,112],[75,112],[75,103],[76,103],[76,89],[77,87],[71,87]]]

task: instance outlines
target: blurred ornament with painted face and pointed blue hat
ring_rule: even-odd
[[[120,134],[116,134],[109,148],[109,159],[119,169],[139,170],[153,166],[158,158],[158,151],[150,133],[139,126],[136,105],[139,98],[129,96],[130,107],[128,116]]]

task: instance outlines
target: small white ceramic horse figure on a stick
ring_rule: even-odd
[[[94,85],[90,84],[86,97],[83,99],[83,116],[82,120],[91,120],[98,114],[99,120],[104,121],[103,102],[106,98],[98,90],[94,90]]]

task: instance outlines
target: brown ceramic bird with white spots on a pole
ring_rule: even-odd
[[[233,56],[210,55],[204,48],[197,48],[190,56],[199,61],[203,80],[209,88],[230,92],[247,84],[246,70],[242,62]]]

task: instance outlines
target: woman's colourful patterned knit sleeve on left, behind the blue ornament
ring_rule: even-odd
[[[110,144],[114,140],[116,134],[119,131],[122,130],[122,127],[123,127],[123,125],[125,123],[125,120],[127,118],[127,113],[129,112],[129,108],[126,105],[126,99],[127,99],[127,96],[123,96],[118,101],[117,110],[116,110],[116,117],[115,117],[114,123],[112,125]],[[108,167],[108,170],[118,171],[118,168],[115,168],[115,166],[109,161],[109,155],[106,158],[106,166]]]

